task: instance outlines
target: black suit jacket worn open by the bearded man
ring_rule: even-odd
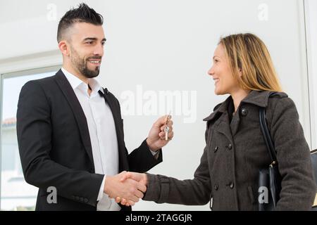
[[[111,108],[116,125],[119,172],[147,172],[156,160],[146,141],[128,154],[120,104],[104,89],[99,94]],[[27,82],[20,92],[17,134],[25,181],[39,188],[36,210],[96,210],[102,174],[95,174],[87,120],[63,72]],[[57,203],[47,203],[54,186]],[[123,207],[130,210],[130,207]]]

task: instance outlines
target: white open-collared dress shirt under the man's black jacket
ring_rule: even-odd
[[[118,141],[113,115],[104,97],[100,96],[98,93],[98,91],[104,93],[104,89],[102,89],[96,79],[88,79],[88,84],[92,89],[89,96],[88,84],[82,82],[81,79],[72,75],[66,69],[62,68],[61,70],[68,79],[70,86],[72,86],[75,95],[82,106],[82,110],[85,113],[89,137],[92,144],[95,173],[105,174],[99,189],[97,198],[99,203],[97,204],[97,210],[118,211],[121,207],[113,198],[109,198],[108,195],[104,193],[106,174],[108,176],[113,176],[118,174],[119,170]],[[157,159],[159,151],[150,151]]]

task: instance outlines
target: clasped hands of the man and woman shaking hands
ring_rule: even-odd
[[[123,171],[116,176],[106,176],[104,193],[121,205],[135,205],[146,191],[147,174]]]

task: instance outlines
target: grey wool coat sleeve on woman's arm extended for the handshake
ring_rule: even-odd
[[[194,172],[194,179],[180,181],[173,177],[147,174],[147,192],[143,200],[181,205],[205,205],[208,203],[211,198],[211,179],[207,150],[206,146],[201,156],[200,165]]]

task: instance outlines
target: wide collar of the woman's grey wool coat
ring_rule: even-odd
[[[241,103],[249,103],[253,105],[257,105],[259,107],[266,108],[268,106],[268,98],[272,91],[254,91],[251,90],[250,93],[242,99]],[[287,94],[283,92],[277,92],[276,95],[280,97],[287,97]],[[223,103],[216,105],[213,109],[213,113],[206,117],[204,121],[213,120],[213,118],[218,115],[218,113],[224,113],[228,109],[229,102],[232,101],[232,97],[229,96]]]

